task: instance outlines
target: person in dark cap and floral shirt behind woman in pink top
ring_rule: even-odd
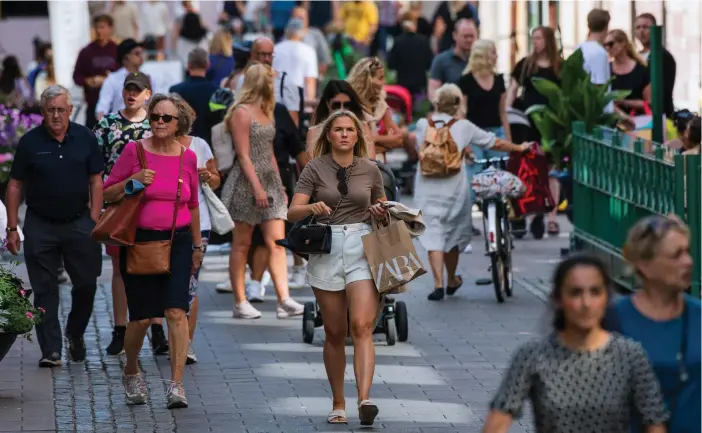
[[[149,76],[141,72],[127,75],[122,97],[125,108],[106,115],[93,129],[105,160],[105,178],[112,171],[112,166],[127,143],[151,137],[151,126],[146,114],[146,101],[151,97]],[[112,342],[107,346],[107,354],[119,355],[124,352],[127,296],[124,292],[124,281],[119,272],[119,248],[107,247],[106,249],[107,254],[112,258],[112,305],[115,321]],[[168,340],[163,332],[161,319],[154,319],[152,322],[151,345],[157,354],[168,352]]]

